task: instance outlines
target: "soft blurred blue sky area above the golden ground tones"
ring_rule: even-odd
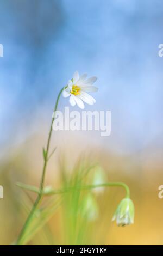
[[[112,113],[101,143],[124,153],[162,147],[162,24],[161,0],[1,0],[1,148],[36,109],[53,108],[76,70],[98,76],[87,109]]]

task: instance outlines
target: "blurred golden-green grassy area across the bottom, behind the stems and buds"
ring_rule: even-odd
[[[16,182],[21,181],[36,186],[39,184],[40,172],[37,162],[36,164],[29,162],[28,150],[26,150],[28,147],[26,148],[26,144],[22,147],[24,150],[17,149],[12,157],[1,164],[0,183],[4,187],[4,199],[0,201],[1,245],[10,244],[16,239],[31,208],[31,201],[34,202],[35,199],[35,194],[32,192],[27,196],[26,192],[16,187]],[[105,170],[108,182],[122,181],[130,187],[131,198],[135,204],[135,223],[121,228],[111,222],[117,204],[124,197],[125,192],[122,188],[105,188],[100,193],[74,190],[64,196],[54,196],[44,200],[43,207],[47,212],[44,212],[41,222],[38,219],[34,223],[33,237],[29,244],[157,245],[163,243],[161,237],[163,201],[158,198],[158,186],[163,180],[161,157],[155,159],[149,150],[139,156],[123,157],[96,148],[92,149],[89,156],[85,152],[83,157],[74,156],[73,159],[66,157],[66,153],[65,150],[65,155],[59,153],[52,158],[47,171],[46,184],[54,188],[90,184],[96,169],[90,167],[98,163],[98,166]],[[41,154],[37,161],[42,161]],[[33,170],[31,166],[35,166],[35,169]],[[83,217],[81,210],[88,194],[91,194],[98,206],[98,217],[93,220],[89,220],[87,216]],[[58,205],[55,205],[57,202]],[[51,205],[50,213],[49,205]]]

